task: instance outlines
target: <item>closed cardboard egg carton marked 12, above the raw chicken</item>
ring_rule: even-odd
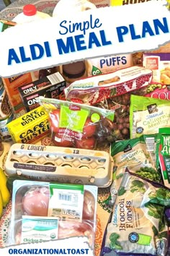
[[[112,183],[111,157],[99,150],[14,143],[6,158],[5,172],[45,182],[97,187]]]

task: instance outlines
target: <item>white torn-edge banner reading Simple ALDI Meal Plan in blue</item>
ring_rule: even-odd
[[[0,33],[0,76],[98,56],[156,49],[170,40],[165,1],[89,9]]]

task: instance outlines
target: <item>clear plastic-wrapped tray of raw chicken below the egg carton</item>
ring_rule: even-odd
[[[86,236],[94,249],[97,187],[16,180],[8,245]]]

